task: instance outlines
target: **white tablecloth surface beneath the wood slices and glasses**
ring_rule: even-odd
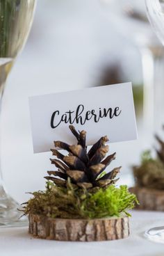
[[[164,213],[132,211],[131,234],[127,239],[104,242],[60,242],[33,239],[27,227],[2,227],[0,229],[0,254],[10,255],[120,255],[120,256],[163,256],[164,244],[148,241],[145,230],[163,225]]]

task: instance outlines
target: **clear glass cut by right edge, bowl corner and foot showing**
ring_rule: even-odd
[[[163,0],[145,0],[147,6],[147,16],[149,22],[154,28],[156,35],[164,45],[164,1]],[[163,113],[163,109],[161,109]],[[164,243],[164,226],[153,227],[147,230],[146,237],[151,241]]]

